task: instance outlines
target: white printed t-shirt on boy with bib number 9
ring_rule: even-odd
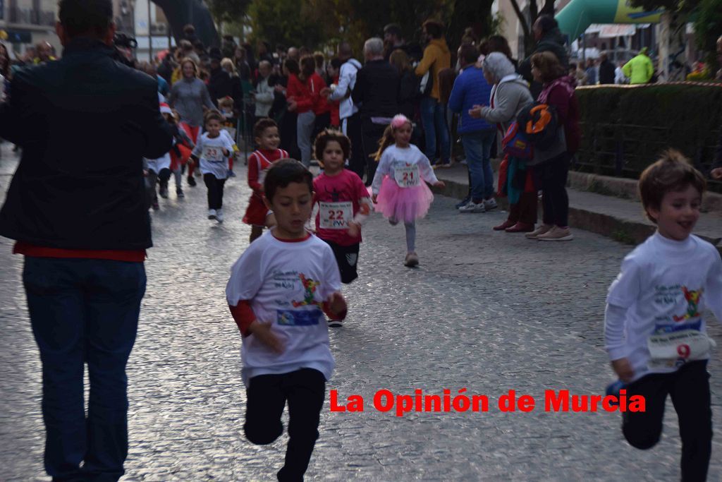
[[[634,380],[709,358],[703,312],[722,319],[722,260],[697,236],[674,241],[655,233],[625,257],[606,302],[627,309],[605,323],[609,358],[627,358]],[[623,327],[622,327],[623,324]]]

